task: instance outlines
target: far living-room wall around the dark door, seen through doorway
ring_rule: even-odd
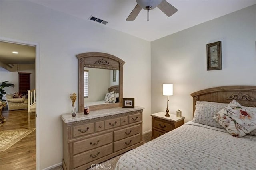
[[[9,81],[14,84],[14,87],[5,87],[4,91],[6,93],[12,93],[19,91],[19,72],[26,72],[30,74],[30,89],[36,88],[36,74],[35,74],[35,64],[28,65],[18,65],[18,72],[16,65],[12,68],[12,72],[0,67],[0,82]]]

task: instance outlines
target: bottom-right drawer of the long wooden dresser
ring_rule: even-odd
[[[140,142],[140,134],[114,142],[114,152]]]

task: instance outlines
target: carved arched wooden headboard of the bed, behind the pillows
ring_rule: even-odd
[[[194,92],[193,115],[196,101],[230,103],[237,100],[242,106],[256,107],[256,86],[221,86]]]

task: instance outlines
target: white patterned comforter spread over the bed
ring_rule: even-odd
[[[256,136],[192,121],[120,157],[116,170],[255,170]]]

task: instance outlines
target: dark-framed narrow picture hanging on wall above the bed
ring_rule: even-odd
[[[206,45],[207,48],[207,70],[221,70],[221,41]]]

